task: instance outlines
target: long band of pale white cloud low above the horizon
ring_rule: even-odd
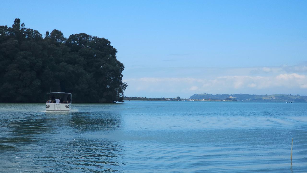
[[[220,76],[206,78],[130,78],[125,80],[128,87],[125,95],[151,97],[189,97],[195,93],[250,93],[265,91],[263,94],[282,92],[289,89],[291,93],[307,88],[304,74],[290,73],[272,76]],[[276,88],[279,90],[277,91]],[[287,90],[288,91],[288,90]],[[138,95],[141,93],[141,95]],[[169,94],[169,95],[167,95]],[[299,94],[299,93],[298,93]]]

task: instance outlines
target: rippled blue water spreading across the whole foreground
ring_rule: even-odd
[[[0,103],[0,172],[307,172],[307,104]],[[292,163],[290,160],[293,140]]]

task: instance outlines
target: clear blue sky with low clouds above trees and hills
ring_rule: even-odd
[[[126,96],[307,95],[307,1],[2,1],[0,25],[111,41]]]

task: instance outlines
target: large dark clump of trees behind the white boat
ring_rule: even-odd
[[[47,92],[72,93],[73,102],[123,100],[124,65],[105,38],[25,28],[16,18],[0,26],[0,102],[45,102]]]

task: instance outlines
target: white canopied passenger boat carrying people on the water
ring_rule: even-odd
[[[47,93],[46,111],[70,111],[72,109],[72,94],[54,92]]]

